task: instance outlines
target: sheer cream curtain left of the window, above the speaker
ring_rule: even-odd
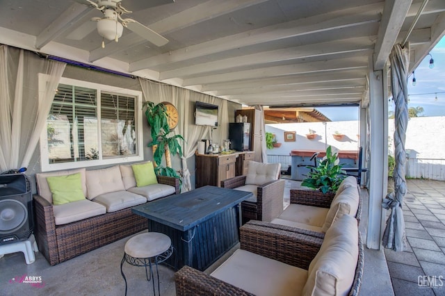
[[[0,46],[0,170],[28,167],[46,126],[65,63]],[[38,74],[47,74],[39,93]]]

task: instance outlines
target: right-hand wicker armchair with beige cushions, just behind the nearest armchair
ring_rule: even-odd
[[[300,233],[323,238],[332,222],[342,215],[360,219],[362,203],[357,180],[348,176],[341,182],[337,193],[323,194],[319,190],[291,189],[291,204],[275,219],[273,224],[284,225]]]

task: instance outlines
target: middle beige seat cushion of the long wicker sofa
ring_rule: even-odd
[[[122,210],[122,208],[129,208],[137,206],[138,204],[145,204],[147,199],[142,195],[128,191],[115,191],[98,195],[93,199],[93,202],[98,202],[106,207],[108,213]]]

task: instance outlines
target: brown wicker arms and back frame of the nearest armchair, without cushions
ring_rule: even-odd
[[[267,222],[262,223],[270,224]],[[253,221],[241,227],[240,235],[241,249],[286,263],[286,265],[296,266],[303,270],[308,270],[309,264],[314,260],[323,242],[321,238],[305,236],[301,233],[280,230],[275,227],[260,226],[253,223]],[[351,296],[359,295],[359,289],[362,284],[363,265],[363,245],[358,233],[358,258],[353,285],[349,292]],[[261,279],[259,280],[261,281]],[[175,283],[178,296],[253,295],[231,283],[227,283],[210,274],[200,272],[188,266],[184,266],[176,272]]]

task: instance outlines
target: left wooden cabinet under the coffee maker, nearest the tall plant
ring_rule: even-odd
[[[235,176],[235,163],[239,154],[196,154],[196,188],[221,186],[221,181]]]

